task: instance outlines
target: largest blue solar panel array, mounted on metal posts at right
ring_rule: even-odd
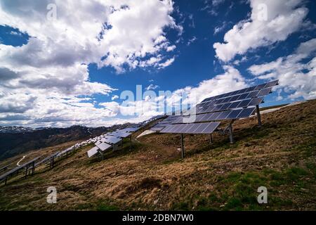
[[[256,111],[256,106],[263,103],[263,97],[270,94],[272,87],[277,84],[278,80],[275,80],[206,98],[202,103],[197,104],[195,108],[189,110],[189,115],[167,117],[162,122],[154,125],[151,130],[174,134],[211,134],[218,126],[213,130],[202,130],[206,124],[209,124],[211,127],[212,122],[238,120],[253,115]],[[192,121],[189,119],[192,119]],[[181,125],[177,126],[177,124]],[[190,124],[190,126],[184,126],[183,124]],[[206,131],[211,132],[207,133]]]

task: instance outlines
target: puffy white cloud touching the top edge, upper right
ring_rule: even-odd
[[[251,16],[234,25],[223,43],[216,42],[216,56],[228,62],[249,49],[284,41],[304,24],[308,9],[303,0],[250,0]]]

